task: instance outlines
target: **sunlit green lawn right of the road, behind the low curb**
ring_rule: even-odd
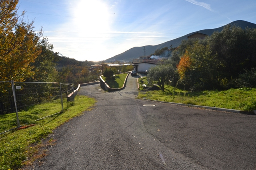
[[[220,107],[237,110],[256,110],[256,88],[238,88],[224,91],[188,92],[175,88],[173,99],[173,87],[165,86],[165,92],[143,90],[140,82],[139,98],[193,104],[199,106]],[[146,80],[144,79],[146,84]]]

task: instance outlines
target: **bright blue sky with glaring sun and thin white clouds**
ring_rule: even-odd
[[[54,52],[78,61],[103,61],[236,20],[256,23],[255,0],[20,0],[22,11]]]

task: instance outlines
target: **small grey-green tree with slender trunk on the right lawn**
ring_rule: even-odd
[[[164,84],[170,80],[171,75],[174,74],[175,68],[170,64],[161,64],[151,67],[148,71],[148,78],[151,81],[156,81],[164,92]]]

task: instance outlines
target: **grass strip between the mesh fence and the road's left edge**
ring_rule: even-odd
[[[26,164],[26,160],[29,160],[37,152],[41,140],[52,133],[52,130],[72,119],[72,117],[82,115],[82,112],[89,110],[95,102],[92,98],[77,95],[75,105],[70,106],[64,113],[37,121],[33,127],[0,135],[0,169],[13,170],[21,168]],[[52,109],[45,107],[43,104],[35,106],[33,109],[40,108],[44,108],[46,113]]]

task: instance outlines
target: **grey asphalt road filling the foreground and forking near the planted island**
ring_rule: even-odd
[[[135,99],[131,76],[124,90],[99,90],[80,89],[96,106],[56,129],[27,169],[256,170],[255,115]]]

